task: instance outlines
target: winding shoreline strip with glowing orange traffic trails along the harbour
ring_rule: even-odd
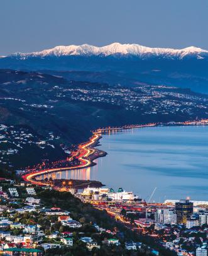
[[[143,127],[157,127],[157,126],[192,126],[192,125],[207,125],[208,120],[202,119],[200,121],[186,121],[186,122],[169,122],[169,123],[158,123],[158,124],[145,124],[145,125],[124,125],[121,127],[106,127],[102,129],[97,129],[96,131],[92,131],[92,137],[89,138],[89,141],[86,143],[80,143],[77,147],[77,151],[75,151],[76,158],[80,161],[80,164],[77,166],[68,166],[63,168],[50,168],[47,170],[40,170],[37,172],[27,173],[23,175],[22,178],[26,182],[33,183],[35,185],[45,186],[48,185],[45,182],[35,180],[35,177],[40,175],[44,175],[47,173],[60,172],[63,170],[77,170],[82,168],[89,168],[91,166],[96,165],[94,160],[100,157],[104,157],[107,155],[106,152],[96,149],[96,146],[99,144],[99,140],[102,138],[102,132],[109,131],[122,131],[124,129],[136,129]]]

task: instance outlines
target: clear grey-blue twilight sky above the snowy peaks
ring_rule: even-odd
[[[208,49],[207,0],[1,0],[0,55],[112,42]]]

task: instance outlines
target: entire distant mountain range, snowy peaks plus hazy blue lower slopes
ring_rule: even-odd
[[[140,81],[208,93],[208,52],[197,47],[177,50],[118,43],[106,47],[69,45],[3,57],[0,58],[0,68],[84,71],[82,81],[102,83],[101,78],[104,78],[107,83],[123,86],[128,83],[134,86]],[[97,74],[101,74],[100,78]],[[68,74],[63,76],[67,78]]]

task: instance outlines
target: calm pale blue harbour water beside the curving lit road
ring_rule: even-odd
[[[99,180],[146,200],[156,187],[157,202],[208,201],[208,126],[131,129],[103,135],[100,144],[107,156],[96,166],[47,177]]]

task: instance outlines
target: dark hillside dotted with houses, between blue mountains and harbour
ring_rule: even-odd
[[[151,84],[68,81],[44,73],[0,71],[0,123],[52,131],[68,144],[109,125],[206,118],[208,97]]]

